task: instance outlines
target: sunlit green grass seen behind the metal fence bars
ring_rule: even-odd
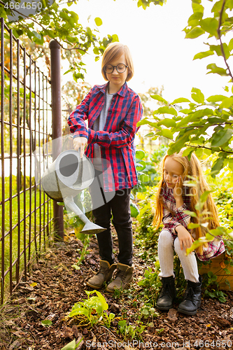
[[[3,277],[3,272],[1,274],[4,279],[4,281],[1,279],[1,284],[3,283],[1,288],[4,288],[5,292],[7,292],[9,290],[10,280],[16,281],[20,273],[22,273],[27,266],[29,260],[31,260],[35,253],[40,253],[41,249],[45,247],[51,232],[51,223],[48,227],[46,227],[46,225],[52,218],[52,206],[50,202],[45,203],[49,198],[39,189],[35,191],[35,188],[32,188],[31,191],[24,191],[18,196],[16,176],[12,176],[12,193],[10,193],[9,177],[5,178],[4,184],[5,199],[10,197],[10,195],[11,197],[16,195],[11,203],[9,200],[5,202],[4,212],[3,206],[0,206],[1,237],[3,236],[3,226],[4,235],[7,235],[4,238],[4,242],[2,240],[0,241],[1,269],[4,274],[8,271],[5,277]],[[32,186],[33,185],[34,179],[32,179]],[[0,186],[2,186],[1,178]],[[29,187],[30,183],[27,177],[25,183],[23,183],[23,188]],[[0,187],[0,193],[1,190],[2,187]],[[17,225],[20,221],[20,225]],[[18,264],[17,261],[11,272],[10,266],[15,260],[20,260],[20,264]],[[11,273],[12,277],[10,276]]]

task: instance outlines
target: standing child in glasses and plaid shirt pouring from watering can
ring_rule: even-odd
[[[85,99],[69,116],[73,132],[73,147],[80,155],[91,158],[95,179],[90,186],[92,213],[97,225],[106,228],[97,234],[99,272],[87,281],[87,286],[101,288],[117,268],[115,279],[107,290],[126,288],[133,279],[132,221],[130,191],[137,183],[134,137],[136,123],[143,109],[139,95],[127,86],[134,76],[129,48],[111,43],[104,51],[102,75],[108,83],[94,85]],[[85,124],[88,121],[88,127]],[[118,264],[114,263],[111,217],[118,234]]]

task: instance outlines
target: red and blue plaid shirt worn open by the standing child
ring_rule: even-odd
[[[104,161],[104,190],[113,191],[132,188],[138,179],[135,166],[134,137],[143,114],[139,95],[125,83],[113,95],[104,130],[94,131],[94,121],[104,107],[104,95],[108,83],[94,85],[85,99],[76,107],[68,119],[73,137],[86,137],[85,155],[94,158],[94,144],[101,146]],[[88,120],[88,128],[84,120]],[[113,178],[112,178],[113,174]]]

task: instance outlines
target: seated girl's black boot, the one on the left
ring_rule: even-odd
[[[172,308],[175,297],[176,287],[174,276],[162,277],[162,290],[157,299],[157,309],[161,311],[168,311]]]

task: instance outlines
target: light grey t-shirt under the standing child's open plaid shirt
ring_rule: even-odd
[[[108,109],[111,106],[113,95],[114,94],[108,94],[108,92],[106,92],[104,107],[103,107],[99,117],[97,118],[97,120],[94,121],[94,125],[93,125],[94,131],[104,130],[104,125],[106,123],[106,119],[108,116]],[[94,165],[94,169],[97,169],[100,172],[102,171],[101,150],[100,150],[100,146],[98,144],[94,144],[93,165]]]

